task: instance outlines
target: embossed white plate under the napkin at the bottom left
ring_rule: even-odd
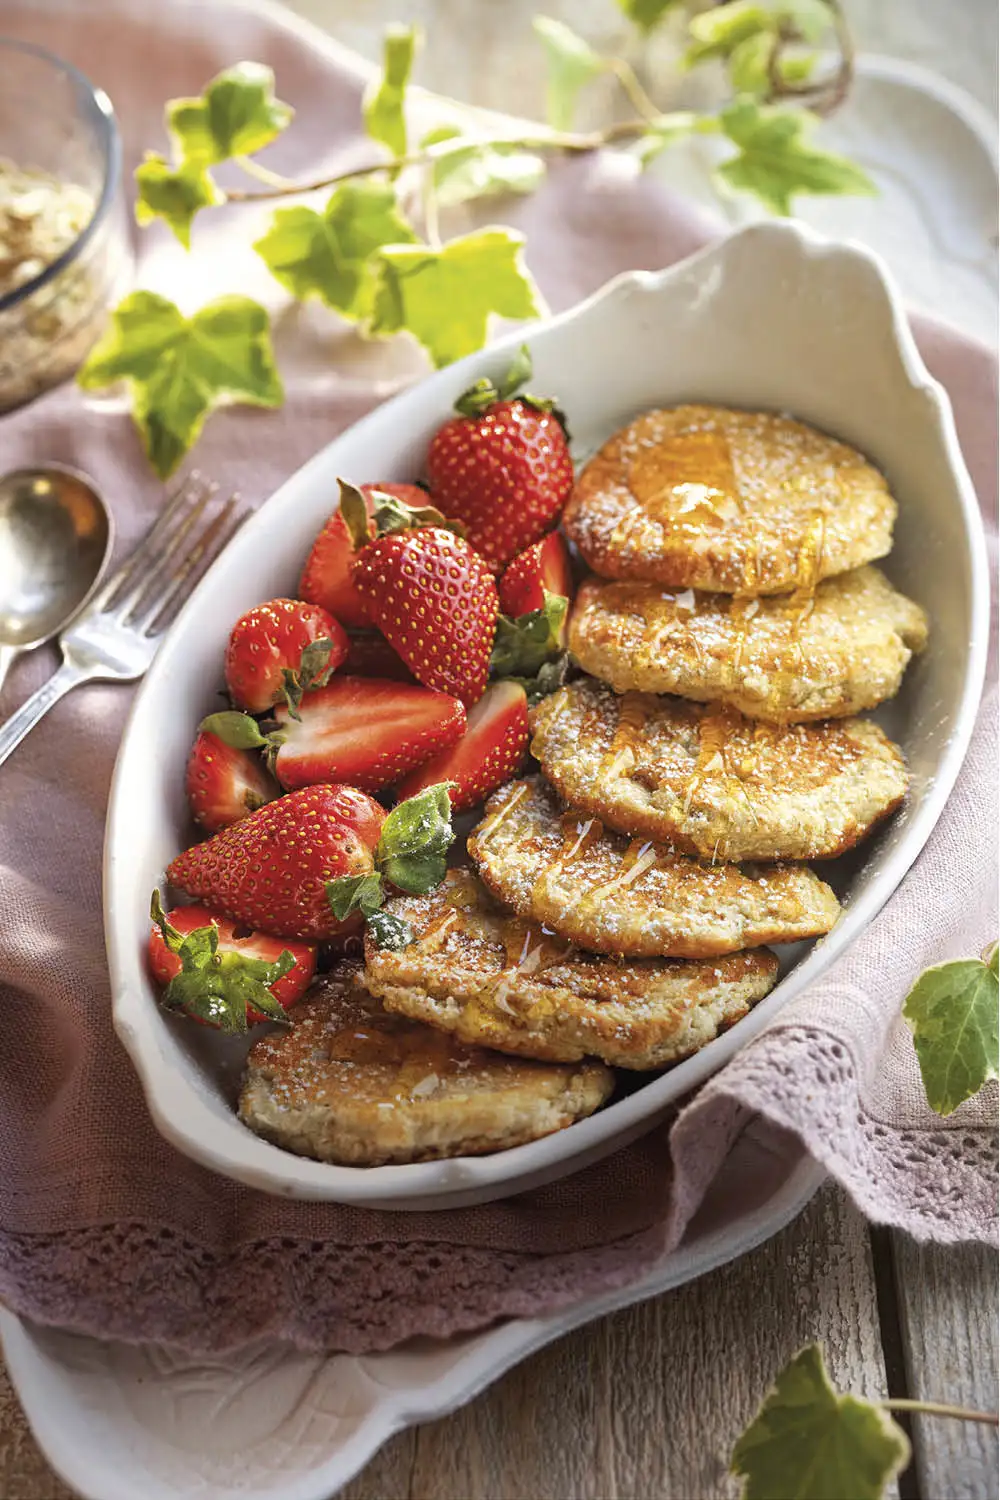
[[[265,1346],[190,1359],[21,1323],[0,1311],[7,1370],[51,1466],[87,1500],[330,1500],[400,1428],[445,1416],[528,1354],[616,1308],[754,1250],[823,1178],[751,1125],[685,1244],[642,1281],[565,1312],[382,1354]],[[732,1198],[754,1202],[732,1218]]]

